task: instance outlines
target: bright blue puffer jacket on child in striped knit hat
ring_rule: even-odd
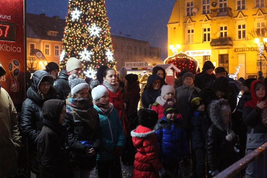
[[[189,153],[186,131],[182,128],[180,119],[171,122],[164,116],[158,120],[154,130],[163,162],[179,162],[182,155]]]

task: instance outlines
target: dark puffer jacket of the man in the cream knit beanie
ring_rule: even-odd
[[[69,86],[69,75],[66,70],[60,71],[58,78],[55,80],[54,88],[57,92],[57,98],[60,100],[65,100],[69,93],[71,92],[71,87]]]

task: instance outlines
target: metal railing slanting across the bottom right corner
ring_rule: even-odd
[[[234,177],[235,175],[240,173],[243,169],[245,169],[249,165],[249,163],[256,160],[259,156],[264,155],[266,150],[267,150],[267,142],[261,145],[259,148],[255,149],[250,154],[246,155],[242,159],[235,162],[233,165],[231,165],[227,169],[220,172],[218,175],[215,176],[215,178]]]

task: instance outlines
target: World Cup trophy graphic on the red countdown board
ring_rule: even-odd
[[[10,72],[10,79],[11,79],[11,92],[18,92],[19,85],[18,85],[18,73],[20,71],[20,64],[18,60],[10,60],[8,63],[8,70]]]

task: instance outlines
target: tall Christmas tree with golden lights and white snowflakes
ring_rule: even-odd
[[[71,57],[83,64],[82,77],[95,77],[100,65],[116,69],[104,0],[69,0],[60,70]]]

